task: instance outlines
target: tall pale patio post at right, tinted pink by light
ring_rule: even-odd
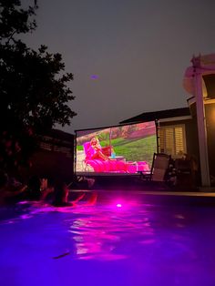
[[[197,122],[198,122],[198,134],[199,134],[199,146],[200,146],[201,185],[202,187],[210,187],[207,129],[206,129],[206,117],[205,117],[204,98],[202,92],[202,75],[200,71],[200,66],[196,68],[194,78],[195,78],[195,96],[196,96]]]

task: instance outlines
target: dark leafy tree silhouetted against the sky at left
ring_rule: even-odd
[[[48,53],[43,45],[33,50],[19,38],[36,29],[36,0],[32,4],[24,9],[20,0],[0,0],[0,163],[4,168],[9,164],[6,140],[12,140],[14,157],[19,145],[23,160],[31,153],[34,135],[56,124],[69,125],[76,116],[67,106],[75,98],[67,87],[73,75],[65,73],[62,56]],[[17,164],[17,158],[11,160],[10,164]]]

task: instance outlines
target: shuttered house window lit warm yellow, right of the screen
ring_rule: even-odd
[[[164,126],[159,128],[159,151],[173,158],[187,152],[185,125]]]

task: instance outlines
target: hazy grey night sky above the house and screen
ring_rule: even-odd
[[[37,28],[25,40],[62,54],[74,74],[69,133],[187,107],[182,80],[191,57],[215,53],[214,0],[37,2]]]

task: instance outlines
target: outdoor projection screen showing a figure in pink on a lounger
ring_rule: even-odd
[[[92,144],[95,138],[99,154]],[[77,175],[148,172],[154,152],[157,152],[154,121],[76,130],[75,172]]]

